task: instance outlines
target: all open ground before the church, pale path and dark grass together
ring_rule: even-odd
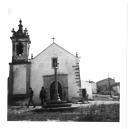
[[[119,121],[119,101],[90,101],[71,108],[45,110],[41,106],[9,106],[8,121]]]

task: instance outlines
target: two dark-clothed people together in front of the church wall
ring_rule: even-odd
[[[29,88],[29,93],[28,93],[28,98],[29,98],[28,104],[27,104],[28,108],[29,108],[30,104],[32,104],[34,108],[36,107],[34,102],[33,102],[33,95],[34,95],[34,91],[30,87]],[[41,100],[41,105],[43,107],[46,104],[46,91],[45,91],[43,86],[41,88],[41,91],[40,91],[40,94],[39,94],[39,98]]]

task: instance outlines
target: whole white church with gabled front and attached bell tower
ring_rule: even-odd
[[[54,42],[37,56],[29,59],[30,37],[19,21],[18,30],[12,29],[12,61],[9,63],[8,102],[27,99],[29,88],[34,91],[33,100],[40,104],[39,93],[43,86],[47,101],[54,101],[57,91],[62,101],[80,99],[81,79],[79,57]],[[56,76],[55,76],[56,75]]]

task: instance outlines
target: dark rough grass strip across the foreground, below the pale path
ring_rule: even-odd
[[[40,111],[14,113],[8,111],[8,121],[79,121],[119,122],[119,104],[90,105],[70,111]]]

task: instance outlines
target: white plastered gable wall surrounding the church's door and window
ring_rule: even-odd
[[[58,57],[58,74],[68,74],[68,98],[79,97],[79,87],[76,84],[73,65],[76,65],[77,58],[65,50],[52,44],[42,53],[31,60],[31,87],[34,90],[34,100],[39,102],[39,92],[44,85],[43,76],[53,75],[52,58]]]

